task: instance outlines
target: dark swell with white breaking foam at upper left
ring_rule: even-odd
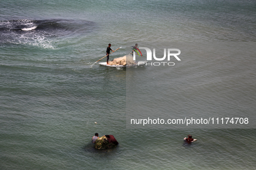
[[[0,21],[0,43],[29,44],[54,48],[63,36],[86,35],[94,30],[94,23],[84,20],[7,20]]]

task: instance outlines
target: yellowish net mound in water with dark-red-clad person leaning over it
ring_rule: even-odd
[[[96,149],[110,149],[118,145],[117,140],[113,135],[105,135],[98,138],[94,143],[94,148]]]

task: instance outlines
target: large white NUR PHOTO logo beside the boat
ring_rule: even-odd
[[[139,49],[144,49],[146,50],[146,55],[147,55],[147,61],[152,61],[152,51],[148,47],[139,47],[136,48],[136,51],[133,51],[133,60],[136,60],[136,52],[137,54],[141,54]],[[176,51],[176,53],[174,53]],[[178,53],[177,53],[178,52]],[[167,49],[167,60],[170,61],[171,57],[175,57],[178,61],[181,61],[179,59],[178,55],[181,54],[181,50],[177,48],[168,48]],[[164,56],[162,58],[156,57],[156,49],[153,48],[153,59],[156,61],[163,61],[166,58],[166,48],[164,49]],[[174,66],[175,63],[173,62],[152,62],[152,63],[145,63],[145,62],[139,62],[139,64],[146,64],[146,65],[151,65],[151,66],[160,66],[160,65],[168,65],[168,66]]]

